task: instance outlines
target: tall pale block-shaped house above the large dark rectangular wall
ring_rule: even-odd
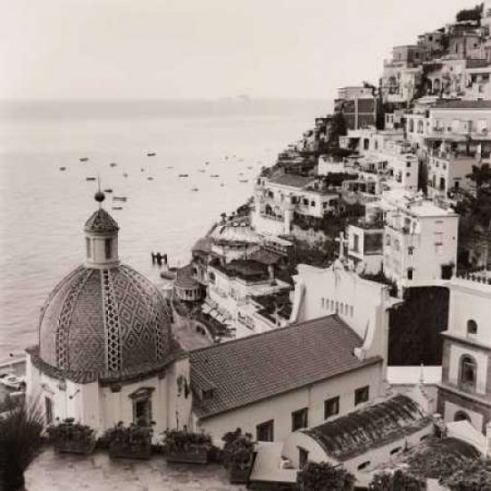
[[[397,287],[450,279],[457,264],[459,216],[422,198],[385,213],[384,272]]]

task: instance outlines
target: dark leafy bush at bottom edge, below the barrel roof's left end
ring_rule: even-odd
[[[308,462],[297,474],[296,484],[300,491],[352,491],[354,475],[329,462]]]

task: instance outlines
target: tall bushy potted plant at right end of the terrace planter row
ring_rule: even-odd
[[[246,484],[254,464],[254,447],[256,442],[250,433],[242,429],[229,431],[221,438],[223,445],[223,464],[229,470],[232,484]]]

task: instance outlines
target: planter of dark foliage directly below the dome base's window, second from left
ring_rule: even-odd
[[[144,421],[130,423],[129,427],[120,421],[105,431],[103,442],[107,443],[112,458],[149,459],[153,433],[152,427]]]

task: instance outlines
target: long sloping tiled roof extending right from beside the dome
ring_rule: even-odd
[[[201,378],[216,387],[211,398],[194,399],[193,411],[208,418],[381,362],[360,361],[360,345],[361,337],[331,315],[192,351],[191,387],[204,390]]]

